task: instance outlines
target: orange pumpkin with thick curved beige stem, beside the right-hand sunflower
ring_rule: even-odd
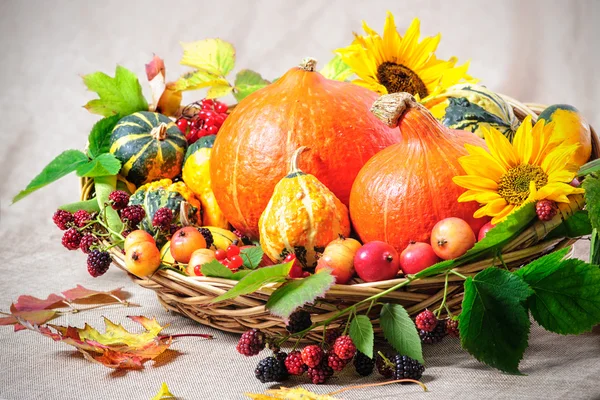
[[[433,226],[447,217],[462,218],[478,232],[487,220],[473,218],[476,202],[457,201],[464,189],[452,177],[464,174],[458,163],[467,155],[464,144],[484,141],[441,125],[408,93],[382,96],[373,112],[399,126],[402,141],[377,153],[354,181],[350,218],[360,238],[402,251],[411,240],[428,242]]]

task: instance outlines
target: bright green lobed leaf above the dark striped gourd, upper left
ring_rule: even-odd
[[[148,110],[148,102],[142,94],[140,82],[135,74],[125,67],[117,65],[114,78],[103,72],[85,75],[83,83],[100,97],[84,106],[91,113],[109,117]]]

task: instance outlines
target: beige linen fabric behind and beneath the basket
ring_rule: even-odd
[[[238,335],[222,333],[165,312],[155,295],[133,285],[117,268],[98,279],[85,255],[60,244],[51,221],[57,206],[78,198],[72,175],[21,202],[11,198],[56,155],[81,149],[97,116],[81,108],[94,98],[80,75],[116,64],[134,71],[144,86],[144,64],[153,53],[166,61],[174,80],[187,69],[178,61],[179,42],[208,37],[231,41],[234,70],[251,68],[275,78],[305,56],[324,65],[347,45],[360,21],[381,32],[386,10],[403,32],[413,17],[423,35],[442,33],[438,56],[471,60],[482,84],[521,101],[567,103],[600,126],[598,1],[3,1],[0,3],[0,309],[20,294],[46,297],[82,284],[109,290],[123,286],[139,308],[106,308],[68,315],[62,324],[102,328],[102,316],[136,328],[126,315],[170,322],[167,333],[211,333],[214,340],[181,339],[177,353],[149,362],[142,371],[112,371],[84,360],[71,347],[32,332],[0,329],[2,399],[149,399],[167,382],[178,399],[241,399],[263,392],[254,378],[260,358],[244,358]],[[186,101],[202,97],[187,93]],[[577,245],[586,257],[587,242]],[[600,332],[578,337],[550,334],[533,325],[521,370],[511,376],[492,370],[460,349],[456,340],[425,346],[429,393],[414,385],[345,392],[344,399],[598,399]],[[352,368],[327,385],[327,393],[352,383]],[[375,375],[374,375],[375,376]],[[306,378],[286,384],[299,385]],[[277,385],[273,385],[277,386]]]

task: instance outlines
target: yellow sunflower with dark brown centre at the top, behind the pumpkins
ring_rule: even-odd
[[[348,47],[335,52],[358,75],[353,81],[380,94],[408,92],[421,100],[442,92],[459,82],[477,80],[467,75],[469,63],[455,67],[457,59],[435,57],[441,36],[426,37],[419,42],[420,22],[413,19],[404,37],[396,30],[394,16],[388,11],[383,37],[364,21],[366,36],[354,34]]]

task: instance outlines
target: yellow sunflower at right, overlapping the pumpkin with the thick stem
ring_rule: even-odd
[[[584,192],[569,185],[576,174],[571,161],[579,144],[551,144],[554,124],[541,120],[531,125],[531,117],[525,118],[512,144],[500,131],[484,128],[489,152],[465,145],[469,155],[458,161],[467,175],[452,180],[468,189],[459,202],[482,204],[475,218],[487,215],[497,224],[523,204],[544,199],[568,203],[568,195]]]

